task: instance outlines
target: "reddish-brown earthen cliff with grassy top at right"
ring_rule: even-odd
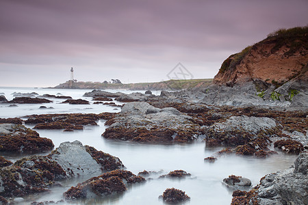
[[[214,84],[233,87],[253,81],[262,90],[292,79],[307,81],[307,54],[308,27],[280,29],[228,57],[214,77]]]

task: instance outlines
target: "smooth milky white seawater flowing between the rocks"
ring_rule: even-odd
[[[14,98],[13,92],[42,94],[61,93],[65,96],[72,96],[74,99],[85,98],[82,95],[91,90],[56,90],[56,89],[34,89],[20,87],[0,87],[8,100]],[[125,92],[128,90],[113,90],[111,92]],[[159,92],[153,92],[159,94]],[[51,99],[52,103],[43,104],[53,109],[39,109],[42,105],[18,105],[18,107],[8,107],[8,104],[0,104],[0,118],[23,117],[31,114],[43,113],[102,113],[118,112],[120,108],[107,105],[68,105],[60,104],[64,99]],[[121,105],[122,103],[116,102]],[[266,174],[286,169],[293,164],[296,156],[285,155],[281,152],[274,154],[268,159],[255,159],[253,157],[236,156],[234,154],[222,156],[215,163],[205,162],[203,159],[211,156],[221,148],[207,148],[204,141],[198,141],[185,145],[150,145],[144,143],[130,143],[126,141],[112,141],[101,137],[105,131],[105,120],[99,120],[99,126],[86,126],[83,131],[63,132],[37,130],[40,137],[47,137],[53,141],[55,148],[64,141],[79,140],[84,145],[93,146],[97,150],[107,152],[117,156],[125,165],[127,170],[138,174],[143,170],[157,172],[150,175],[149,180],[142,184],[133,184],[127,191],[120,195],[110,197],[97,197],[88,200],[64,202],[62,204],[164,204],[159,200],[167,188],[175,187],[187,193],[191,199],[185,204],[230,204],[232,189],[228,189],[222,184],[223,178],[234,174],[251,179],[253,186],[259,183],[261,177]],[[33,126],[25,125],[29,128]],[[49,152],[40,153],[49,154]],[[26,156],[25,154],[5,154],[5,159],[16,161]],[[192,174],[188,178],[173,180],[169,178],[159,179],[162,174],[175,169],[183,169]],[[83,182],[92,176],[82,176],[70,180],[61,181],[62,187],[53,187],[49,193],[40,193],[25,197],[22,204],[31,202],[44,202],[62,200],[62,194],[70,187],[76,186],[78,182]]]

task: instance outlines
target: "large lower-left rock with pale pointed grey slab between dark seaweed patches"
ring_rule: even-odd
[[[79,141],[64,142],[47,156],[29,156],[0,169],[0,195],[22,197],[48,191],[58,180],[123,167],[115,156],[82,146]]]

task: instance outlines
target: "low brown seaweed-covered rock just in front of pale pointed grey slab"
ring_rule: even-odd
[[[66,200],[83,199],[88,197],[111,195],[127,190],[126,184],[144,182],[142,176],[136,176],[129,171],[114,170],[101,176],[90,178],[85,182],[71,187],[64,193]]]

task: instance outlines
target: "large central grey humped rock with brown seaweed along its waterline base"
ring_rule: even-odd
[[[175,108],[159,109],[147,102],[125,104],[103,133],[107,139],[151,143],[190,142],[201,135],[201,126]]]

